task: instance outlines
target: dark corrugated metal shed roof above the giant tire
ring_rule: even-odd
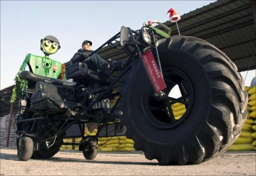
[[[178,35],[176,23],[164,24],[172,29],[172,36]],[[218,0],[182,15],[178,26],[181,35],[207,40],[221,49],[238,71],[256,68],[255,55],[252,57],[256,48],[255,23],[249,0]],[[104,59],[126,57],[124,51],[110,47],[102,48],[99,54]]]

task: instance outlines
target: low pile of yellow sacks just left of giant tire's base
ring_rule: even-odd
[[[102,151],[132,151],[134,141],[126,136],[99,138],[98,146]]]

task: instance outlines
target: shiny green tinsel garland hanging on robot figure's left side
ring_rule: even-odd
[[[11,94],[11,100],[10,102],[14,102],[18,96],[20,95],[24,95],[27,89],[27,81],[25,79],[23,79],[22,77],[20,77],[20,73],[23,72],[26,69],[26,65],[27,62],[30,59],[30,54],[26,55],[26,58],[24,59],[24,61],[22,62],[22,65],[18,71],[18,73],[15,76],[15,85],[12,89],[12,94]]]

